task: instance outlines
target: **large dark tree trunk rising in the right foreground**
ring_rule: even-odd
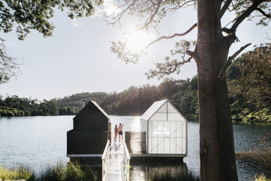
[[[198,0],[198,69],[201,181],[238,180],[233,128],[225,79],[218,77],[231,42],[222,36],[221,1]]]

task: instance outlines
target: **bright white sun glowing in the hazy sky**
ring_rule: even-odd
[[[132,32],[127,34],[127,48],[139,51],[144,49],[149,43],[151,43],[151,36],[143,31]]]

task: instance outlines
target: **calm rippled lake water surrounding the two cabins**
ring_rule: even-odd
[[[0,165],[16,167],[27,165],[40,171],[57,162],[67,162],[66,132],[73,129],[74,116],[58,117],[0,117]],[[138,131],[140,117],[110,116],[112,129],[123,123],[124,131]],[[270,125],[235,123],[233,125],[236,152],[250,149],[257,138],[271,131]],[[114,135],[112,134],[112,138]],[[184,165],[188,171],[199,174],[199,135],[198,122],[188,123],[188,156]],[[150,165],[133,165],[132,180],[146,180],[146,172],[156,169]],[[237,160],[240,180],[252,180],[255,173],[266,173],[259,165]]]

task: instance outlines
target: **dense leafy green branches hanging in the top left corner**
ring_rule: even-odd
[[[95,6],[103,1],[15,1],[5,0],[0,2],[0,31],[11,32],[16,25],[19,40],[23,40],[31,29],[35,29],[44,37],[52,36],[54,26],[49,22],[53,17],[54,9],[64,11],[68,9],[68,16],[73,19],[83,15],[90,16],[95,12]]]

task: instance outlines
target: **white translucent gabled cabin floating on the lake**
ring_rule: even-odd
[[[187,156],[188,121],[168,99],[156,101],[142,114],[140,131],[146,132],[146,154]]]

